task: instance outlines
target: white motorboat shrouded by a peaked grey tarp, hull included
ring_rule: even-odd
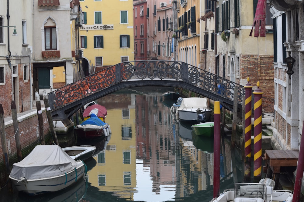
[[[58,145],[37,145],[13,164],[9,178],[18,191],[30,195],[62,190],[84,180],[85,164],[75,161]]]

